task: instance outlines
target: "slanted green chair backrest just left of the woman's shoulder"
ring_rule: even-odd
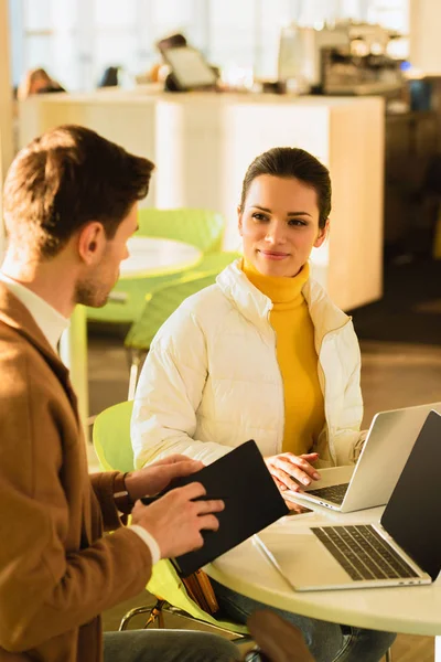
[[[179,281],[166,285],[151,292],[146,298],[144,308],[130,327],[125,345],[131,349],[146,350],[165,320],[191,295],[198,292],[216,281],[217,270],[196,276],[183,276]]]

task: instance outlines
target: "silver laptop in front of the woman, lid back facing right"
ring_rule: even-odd
[[[309,501],[342,513],[385,505],[397,483],[415,440],[431,410],[441,403],[376,414],[355,466],[321,469],[321,480],[284,499]]]

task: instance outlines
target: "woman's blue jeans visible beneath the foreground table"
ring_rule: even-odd
[[[212,585],[220,609],[236,622],[245,623],[256,609],[268,609],[268,605],[246,598],[214,579]],[[379,662],[396,638],[390,632],[327,623],[282,609],[275,611],[301,630],[316,662]]]

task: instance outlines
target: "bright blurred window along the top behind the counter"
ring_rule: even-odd
[[[275,78],[280,30],[353,18],[407,33],[409,0],[9,0],[12,77],[43,67],[68,90],[94,89],[109,66],[132,84],[182,32],[220,67]]]

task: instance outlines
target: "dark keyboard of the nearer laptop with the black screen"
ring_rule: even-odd
[[[354,580],[418,577],[370,524],[311,531]]]

